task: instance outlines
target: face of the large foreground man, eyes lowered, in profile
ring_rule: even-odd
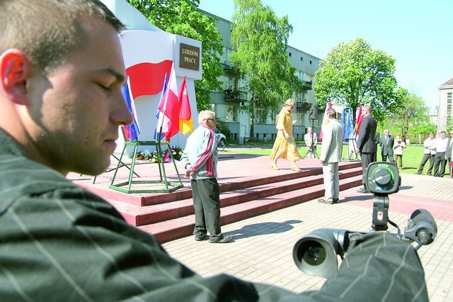
[[[40,160],[62,174],[100,174],[115,150],[118,125],[132,123],[121,94],[125,81],[114,28],[81,20],[88,40],[67,62],[34,78],[28,133]]]

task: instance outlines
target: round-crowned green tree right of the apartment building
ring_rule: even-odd
[[[321,106],[328,101],[352,108],[369,104],[374,118],[381,121],[398,104],[394,72],[395,60],[390,55],[357,38],[340,43],[321,60],[314,94]]]

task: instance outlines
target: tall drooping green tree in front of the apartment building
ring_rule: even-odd
[[[239,71],[250,98],[241,106],[251,117],[250,136],[254,136],[256,108],[266,114],[277,110],[302,83],[294,75],[287,57],[287,41],[292,26],[287,16],[277,18],[260,0],[234,0],[235,13],[229,60]]]

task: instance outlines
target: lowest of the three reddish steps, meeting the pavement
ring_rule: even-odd
[[[361,174],[340,179],[340,191],[349,189],[353,186],[359,186],[360,184],[362,184]],[[221,209],[220,220],[222,225],[233,223],[238,220],[258,216],[263,213],[268,213],[287,206],[293,206],[297,203],[309,201],[323,196],[323,193],[323,184],[316,184],[303,189],[287,191],[285,193],[272,196],[265,196],[252,201],[237,203],[232,206],[225,206]],[[159,242],[168,242],[170,240],[175,240],[177,238],[192,234],[194,222],[195,216],[192,214],[180,218],[165,220],[159,223],[141,225],[138,228],[153,234]]]

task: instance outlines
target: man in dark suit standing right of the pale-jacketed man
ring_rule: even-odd
[[[371,107],[365,105],[362,107],[363,120],[359,128],[359,140],[357,141],[357,153],[360,152],[362,160],[362,184],[363,187],[358,189],[359,193],[369,193],[365,186],[365,176],[367,175],[368,165],[376,158],[377,146],[374,140],[376,135],[377,121],[371,116]]]

